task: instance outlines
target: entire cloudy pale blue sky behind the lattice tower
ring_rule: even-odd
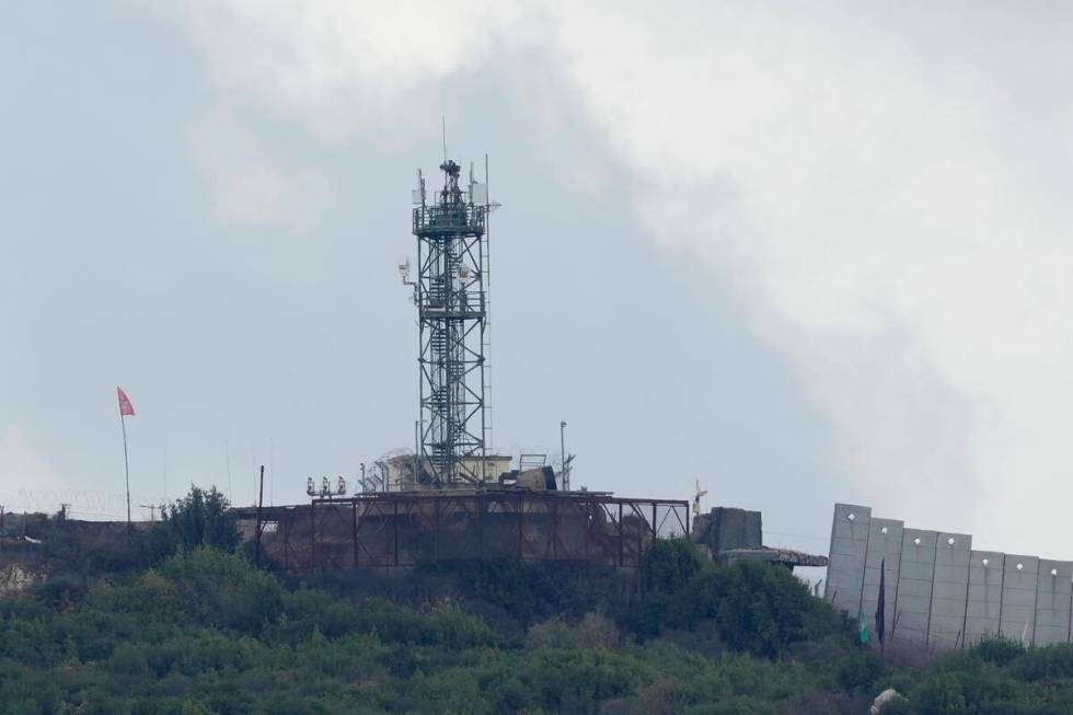
[[[15,2],[0,501],[304,499],[412,443],[415,169],[491,166],[493,447],[1073,558],[1061,5]],[[478,173],[481,173],[478,171]]]

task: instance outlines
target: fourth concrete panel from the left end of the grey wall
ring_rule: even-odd
[[[971,551],[972,537],[969,534],[939,532],[927,630],[927,644],[933,648],[949,649],[961,645]]]

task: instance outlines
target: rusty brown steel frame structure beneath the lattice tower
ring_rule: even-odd
[[[255,509],[236,509],[247,523]],[[689,501],[460,489],[364,494],[265,508],[262,553],[280,569],[452,561],[637,567],[657,537],[688,534]]]

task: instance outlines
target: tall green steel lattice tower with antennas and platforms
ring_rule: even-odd
[[[461,168],[440,164],[443,188],[427,200],[417,172],[417,304],[420,331],[418,481],[435,486],[478,483],[488,474],[485,441],[488,347],[487,184],[459,186]],[[403,266],[408,270],[408,266]],[[404,273],[404,280],[407,276]]]

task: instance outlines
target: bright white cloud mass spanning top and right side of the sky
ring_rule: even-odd
[[[654,234],[731,276],[757,332],[788,356],[861,475],[855,496],[994,547],[1062,534],[1073,112],[1050,78],[1073,59],[1064,18],[858,3],[189,8],[221,87],[332,140],[404,126],[404,101],[503,61],[495,48],[543,47],[573,83],[563,96],[581,97],[643,178],[633,205]]]

